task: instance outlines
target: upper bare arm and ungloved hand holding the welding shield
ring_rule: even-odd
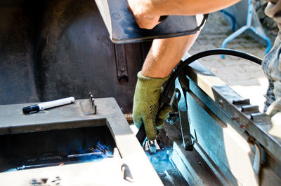
[[[161,15],[196,15],[212,13],[240,0],[127,0],[141,28],[152,29]]]

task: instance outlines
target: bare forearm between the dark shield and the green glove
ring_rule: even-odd
[[[197,34],[188,36],[155,39],[143,64],[142,75],[150,78],[169,76],[199,33],[198,31]]]

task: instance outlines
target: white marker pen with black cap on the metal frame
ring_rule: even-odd
[[[74,97],[67,97],[64,99],[58,99],[55,101],[48,101],[44,103],[38,103],[37,105],[34,106],[27,106],[22,108],[22,112],[24,114],[31,114],[31,113],[37,113],[40,110],[45,110],[46,108],[52,108],[55,106],[63,106],[69,103],[74,103]]]

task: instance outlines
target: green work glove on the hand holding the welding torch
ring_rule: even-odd
[[[171,106],[165,106],[159,110],[159,97],[162,92],[162,84],[167,78],[148,78],[138,73],[135,95],[133,96],[133,122],[139,129],[145,126],[148,140],[155,140],[156,129],[164,126],[164,120],[171,112]],[[159,110],[159,112],[158,112]]]

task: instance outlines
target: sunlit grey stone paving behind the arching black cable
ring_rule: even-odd
[[[223,20],[221,13],[216,12],[209,15],[207,24],[197,41],[190,49],[191,55],[204,50],[221,48],[223,40],[232,34],[230,24]],[[274,38],[274,37],[270,37]],[[248,52],[263,58],[266,47],[242,34],[226,45],[227,48]],[[263,75],[261,66],[237,57],[221,56],[205,57],[199,60],[201,64],[212,71],[216,76],[224,80],[230,87],[244,98],[249,98],[251,104],[259,105],[263,110],[268,80]]]

